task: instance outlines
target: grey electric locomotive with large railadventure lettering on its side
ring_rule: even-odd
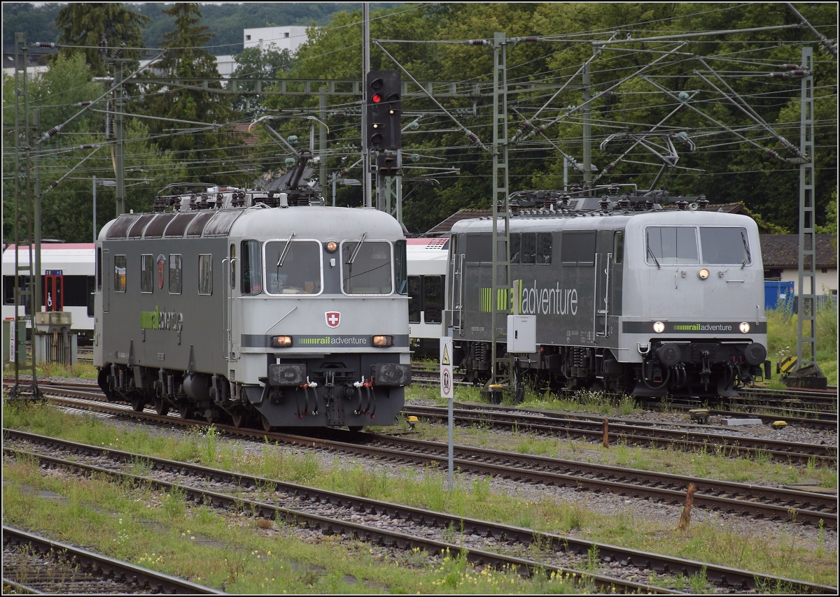
[[[731,396],[769,377],[758,228],[707,203],[663,210],[644,195],[540,200],[511,218],[512,290],[497,301],[491,218],[459,221],[444,313],[455,362],[474,382],[490,376],[497,308],[536,315],[538,351],[518,355],[517,369],[565,387]],[[496,319],[500,331],[504,319]]]

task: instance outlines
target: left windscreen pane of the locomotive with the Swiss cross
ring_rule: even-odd
[[[321,293],[321,243],[285,241],[265,243],[265,275],[269,294]],[[243,267],[245,262],[243,249]],[[244,286],[242,287],[244,289]]]

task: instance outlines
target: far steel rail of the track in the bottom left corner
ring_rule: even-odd
[[[5,451],[4,451],[5,453]],[[60,541],[54,541],[46,537],[39,537],[31,532],[18,528],[3,525],[3,546],[31,545],[42,555],[52,553],[66,553],[67,558],[80,563],[81,566],[93,573],[100,573],[108,577],[121,577],[128,583],[137,583],[139,586],[150,589],[152,592],[168,594],[226,594],[224,591],[207,587],[203,584],[192,583],[189,580],[179,579],[170,574],[163,574],[135,566],[133,563],[123,562],[118,559],[108,558],[100,553],[90,552],[87,549],[77,548]],[[5,579],[3,581],[5,583]]]

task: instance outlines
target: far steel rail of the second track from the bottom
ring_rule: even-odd
[[[110,459],[130,464],[143,461],[150,465],[152,470],[161,470],[178,475],[193,475],[206,480],[221,481],[226,483],[244,486],[248,488],[261,487],[264,490],[274,487],[274,491],[283,492],[295,499],[309,501],[312,503],[325,504],[343,507],[354,511],[364,511],[372,514],[385,514],[391,518],[400,518],[417,522],[427,527],[438,528],[460,528],[462,532],[478,534],[482,537],[496,537],[507,542],[518,542],[530,545],[538,542],[548,549],[564,553],[575,553],[583,555],[591,553],[593,548],[597,549],[598,558],[606,561],[622,561],[628,565],[632,564],[641,568],[651,568],[659,573],[683,574],[690,576],[701,572],[706,568],[706,577],[715,584],[727,587],[753,590],[760,581],[764,584],[779,586],[780,582],[793,583],[795,589],[801,592],[810,593],[817,590],[831,589],[825,585],[812,584],[792,579],[783,579],[774,575],[755,573],[717,564],[703,563],[686,558],[677,558],[659,553],[643,552],[630,548],[622,548],[606,543],[585,541],[583,539],[559,535],[550,532],[538,532],[523,527],[512,527],[498,522],[478,520],[470,517],[458,517],[445,512],[430,511],[424,508],[402,506],[387,501],[373,500],[370,498],[351,496],[337,491],[323,490],[307,485],[297,485],[280,480],[268,479],[255,475],[245,475],[228,470],[214,469],[211,467],[196,465],[193,463],[180,462],[170,459],[160,459],[135,454],[122,450],[103,449],[98,446],[79,444],[63,439],[55,439],[34,433],[7,431],[10,439],[25,439],[34,443],[44,444],[49,447],[74,451],[76,454],[87,454],[95,456],[107,456]]]

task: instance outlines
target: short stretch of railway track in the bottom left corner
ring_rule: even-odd
[[[225,594],[3,525],[3,594]]]

